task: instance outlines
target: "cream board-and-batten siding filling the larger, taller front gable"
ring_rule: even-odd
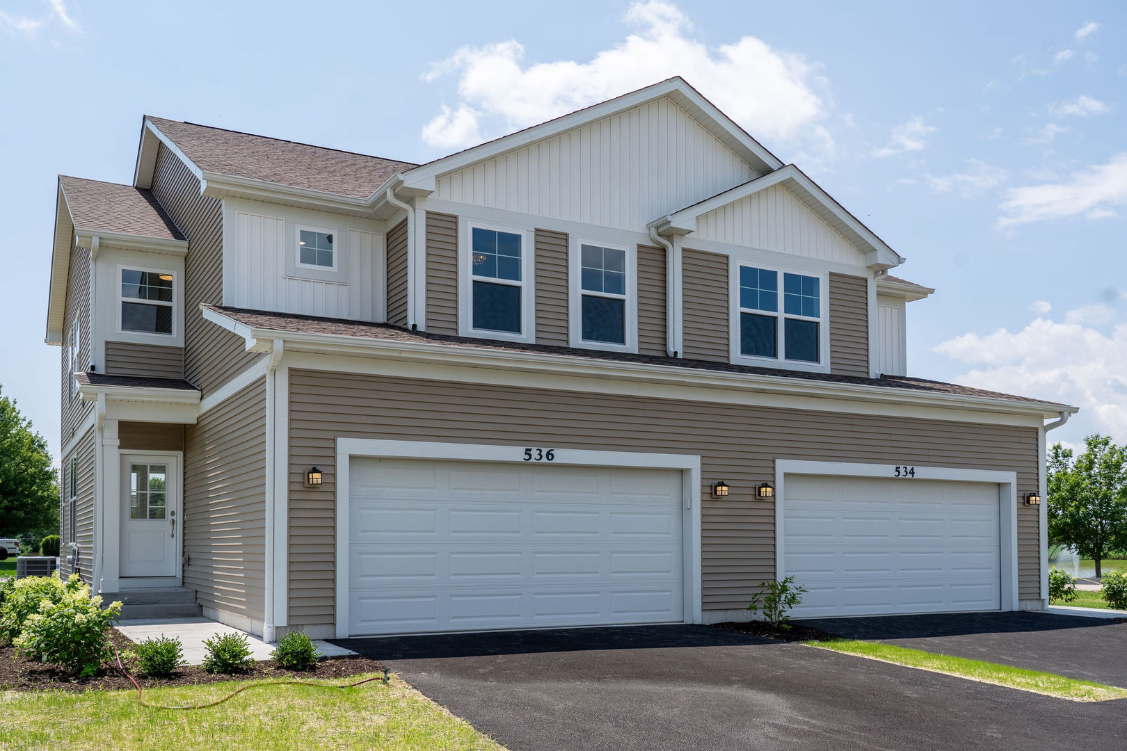
[[[440,176],[435,197],[645,230],[756,172],[669,99]]]

